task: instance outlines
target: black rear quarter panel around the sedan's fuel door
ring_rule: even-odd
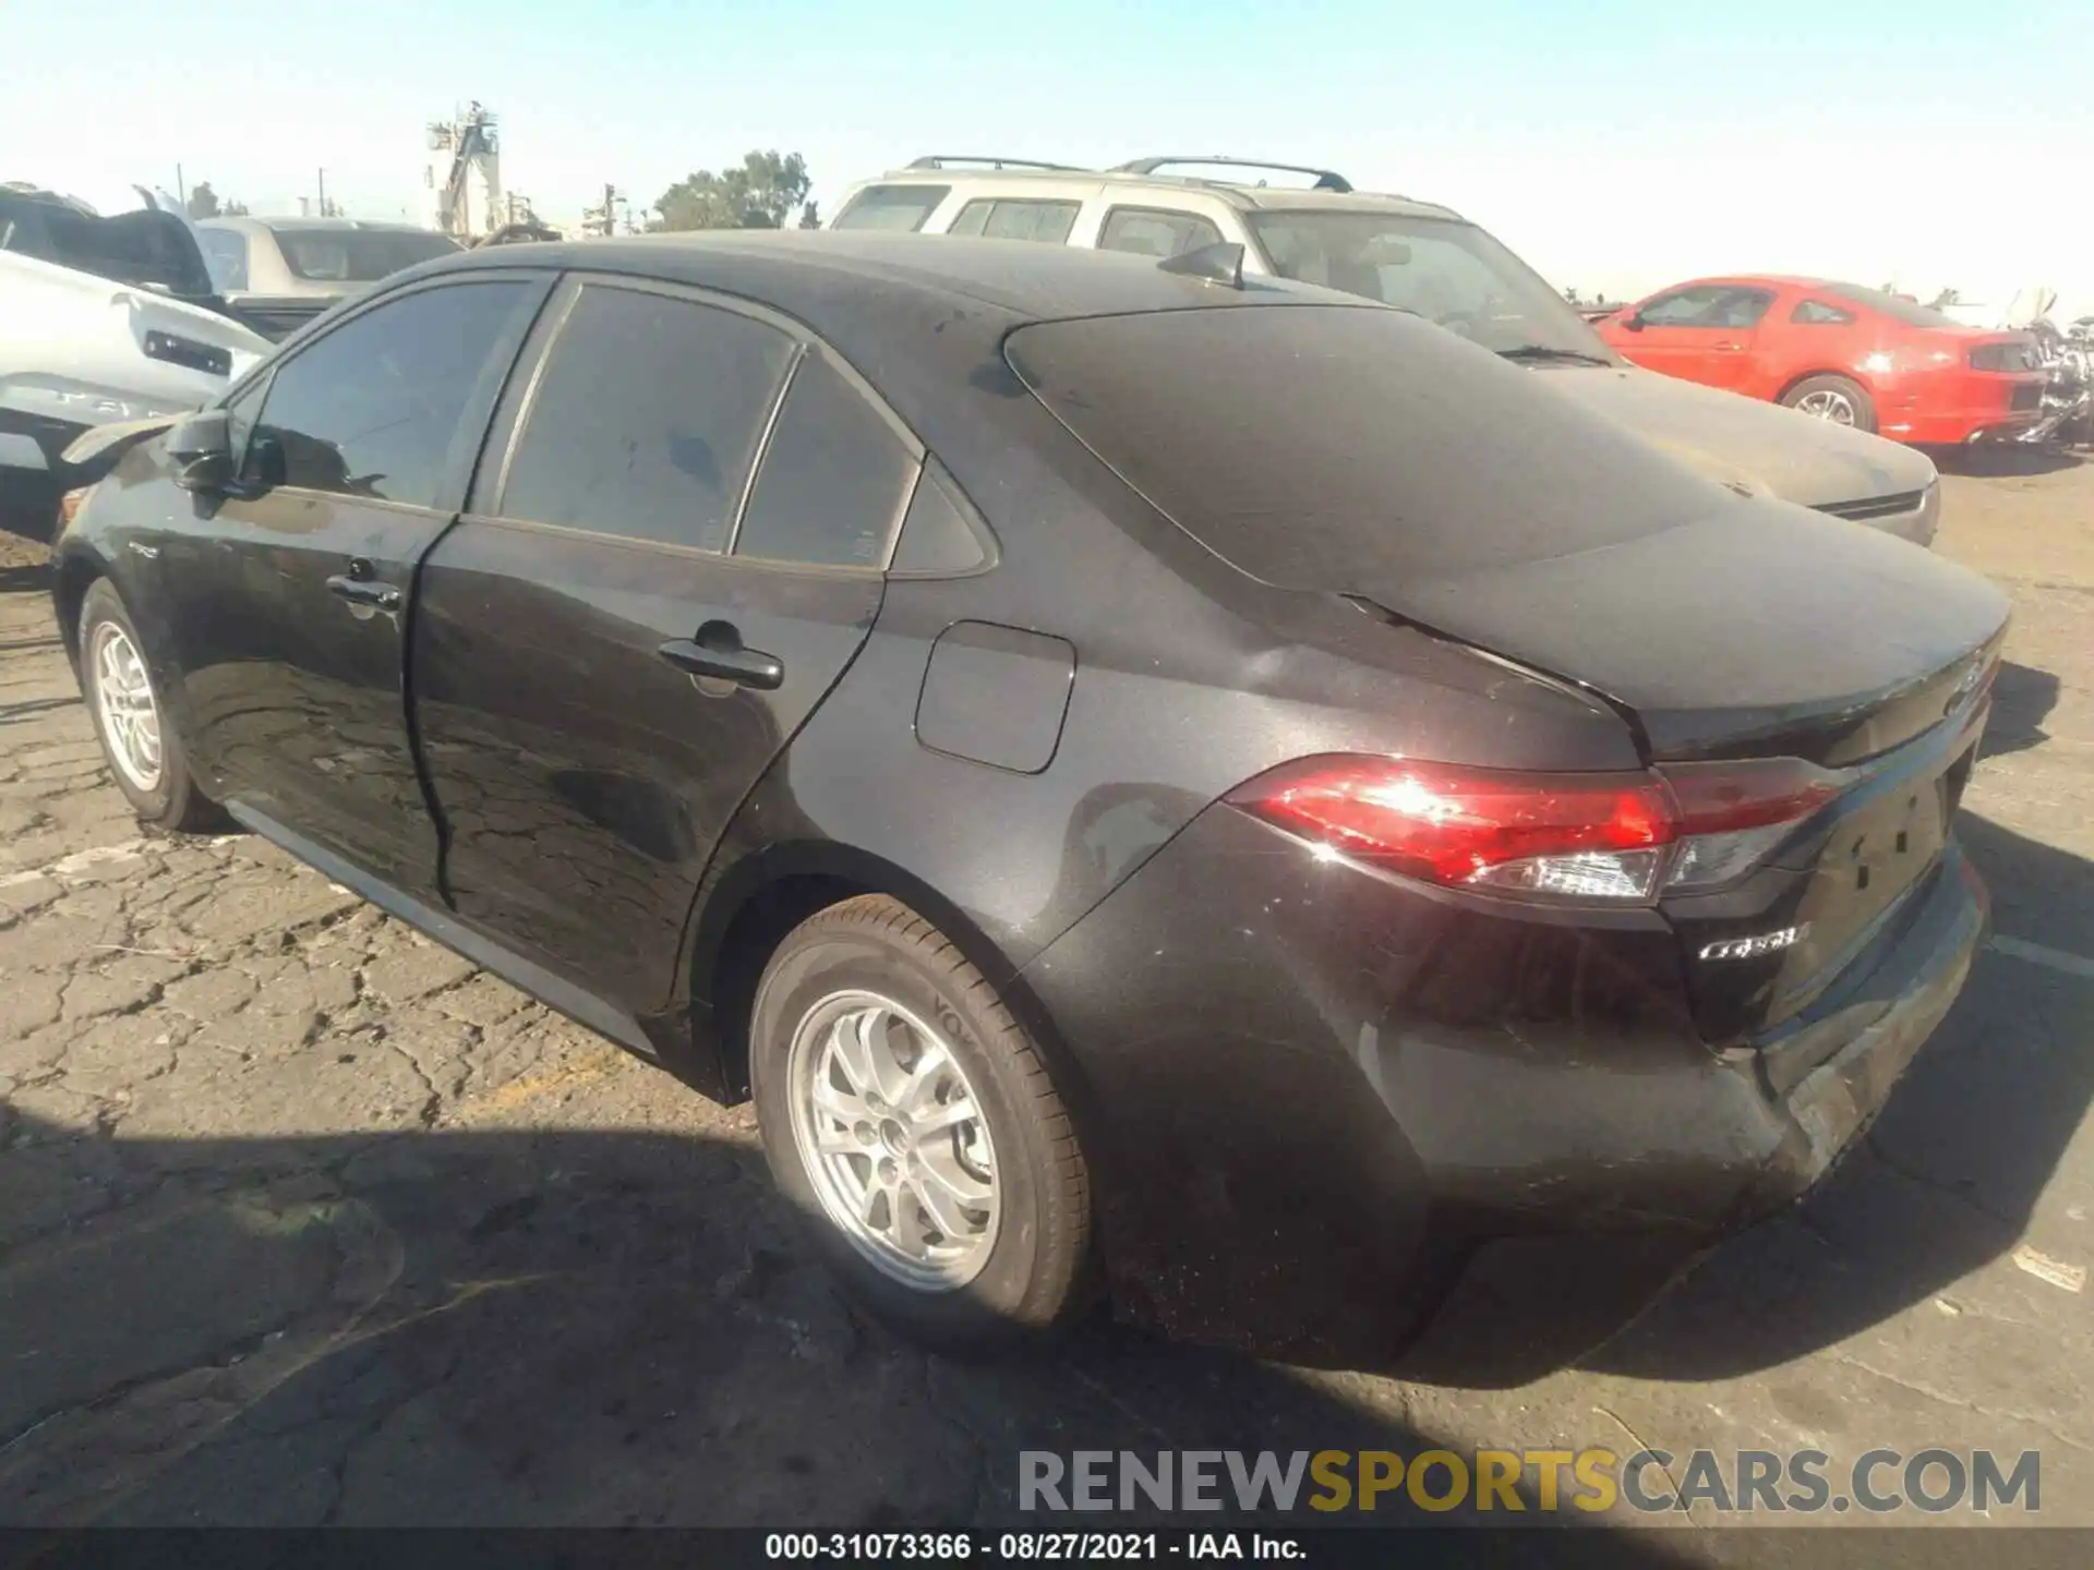
[[[766,869],[879,869],[936,904],[923,915],[957,923],[984,971],[1011,975],[1204,806],[1286,760],[1403,749],[1508,768],[1635,764],[1627,728],[1596,701],[1336,597],[1265,588],[1043,408],[1011,414],[1026,440],[940,454],[997,530],[1001,565],[890,582],[865,651],[708,871],[699,996],[714,986],[712,942]],[[932,645],[961,620],[1074,645],[1068,714],[1039,772],[919,741]]]

